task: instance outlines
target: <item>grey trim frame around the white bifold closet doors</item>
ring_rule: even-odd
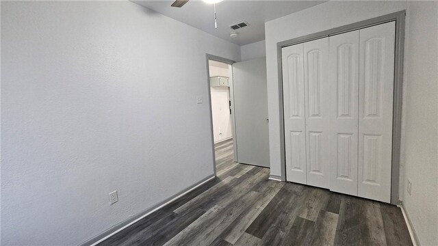
[[[280,149],[281,149],[281,178],[286,180],[286,161],[285,161],[285,126],[283,115],[283,77],[282,77],[282,54],[281,49],[286,46],[300,44],[319,38],[333,36],[339,33],[355,31],[365,27],[372,27],[390,21],[396,22],[396,46],[395,46],[395,61],[394,61],[394,114],[392,121],[392,163],[391,163],[391,204],[397,205],[399,202],[398,185],[400,182],[400,138],[402,124],[402,79],[403,79],[403,53],[404,53],[404,17],[406,10],[378,16],[368,20],[359,21],[342,27],[335,27],[326,31],[309,34],[291,40],[285,40],[277,43],[277,63],[279,77],[279,112],[280,112]]]

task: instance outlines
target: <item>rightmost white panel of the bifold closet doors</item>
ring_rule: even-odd
[[[395,23],[359,34],[358,195],[390,202]]]

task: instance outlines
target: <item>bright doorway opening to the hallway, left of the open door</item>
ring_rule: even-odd
[[[208,59],[208,71],[216,176],[220,176],[236,165],[232,66],[217,59]]]

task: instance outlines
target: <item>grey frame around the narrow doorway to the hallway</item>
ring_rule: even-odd
[[[220,61],[225,64],[232,65],[235,61],[227,58],[218,57],[216,55],[211,55],[206,53],[205,61],[207,64],[207,91],[208,91],[208,107],[210,114],[210,129],[211,129],[211,148],[213,149],[213,169],[214,176],[216,176],[216,153],[214,149],[214,131],[213,131],[213,111],[211,109],[211,86],[210,86],[210,68],[209,68],[209,60]],[[234,92],[233,92],[233,66],[229,66],[229,85],[230,85],[230,100],[231,100],[231,135],[233,136],[233,148],[234,148],[234,161],[237,161],[237,145],[235,144],[235,114],[234,114]]]

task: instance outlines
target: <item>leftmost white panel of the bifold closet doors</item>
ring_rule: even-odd
[[[286,180],[307,184],[303,44],[282,49]]]

